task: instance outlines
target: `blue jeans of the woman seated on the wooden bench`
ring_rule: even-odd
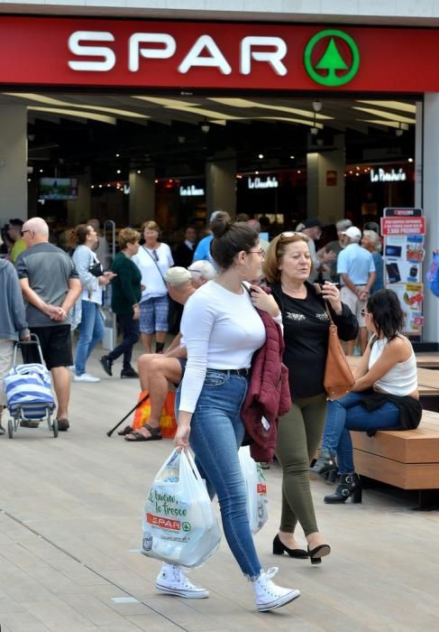
[[[342,399],[328,402],[322,448],[337,455],[340,474],[354,471],[350,430],[367,432],[394,428],[400,424],[395,404],[387,402],[375,411],[367,411],[360,404],[361,399],[366,398],[364,393],[350,393]]]

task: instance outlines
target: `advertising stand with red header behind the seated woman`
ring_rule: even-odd
[[[384,209],[381,234],[385,286],[398,295],[405,316],[405,333],[419,336],[424,324],[425,218],[422,209]]]

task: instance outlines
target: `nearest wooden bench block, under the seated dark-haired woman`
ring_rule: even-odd
[[[416,430],[351,432],[360,476],[418,491],[419,508],[439,506],[439,413],[425,410]]]

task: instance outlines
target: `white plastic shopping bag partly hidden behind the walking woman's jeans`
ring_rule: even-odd
[[[269,518],[267,481],[261,463],[250,456],[250,446],[240,448],[239,460],[247,487],[247,512],[252,534],[257,534]]]

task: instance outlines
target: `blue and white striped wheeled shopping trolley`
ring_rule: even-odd
[[[16,364],[17,351],[24,346],[37,345],[41,364]],[[20,426],[38,427],[47,420],[49,430],[58,437],[58,420],[51,421],[55,400],[51,392],[50,372],[44,367],[40,340],[31,334],[30,340],[15,343],[13,368],[5,375],[6,405],[12,419],[8,420],[9,439]]]

